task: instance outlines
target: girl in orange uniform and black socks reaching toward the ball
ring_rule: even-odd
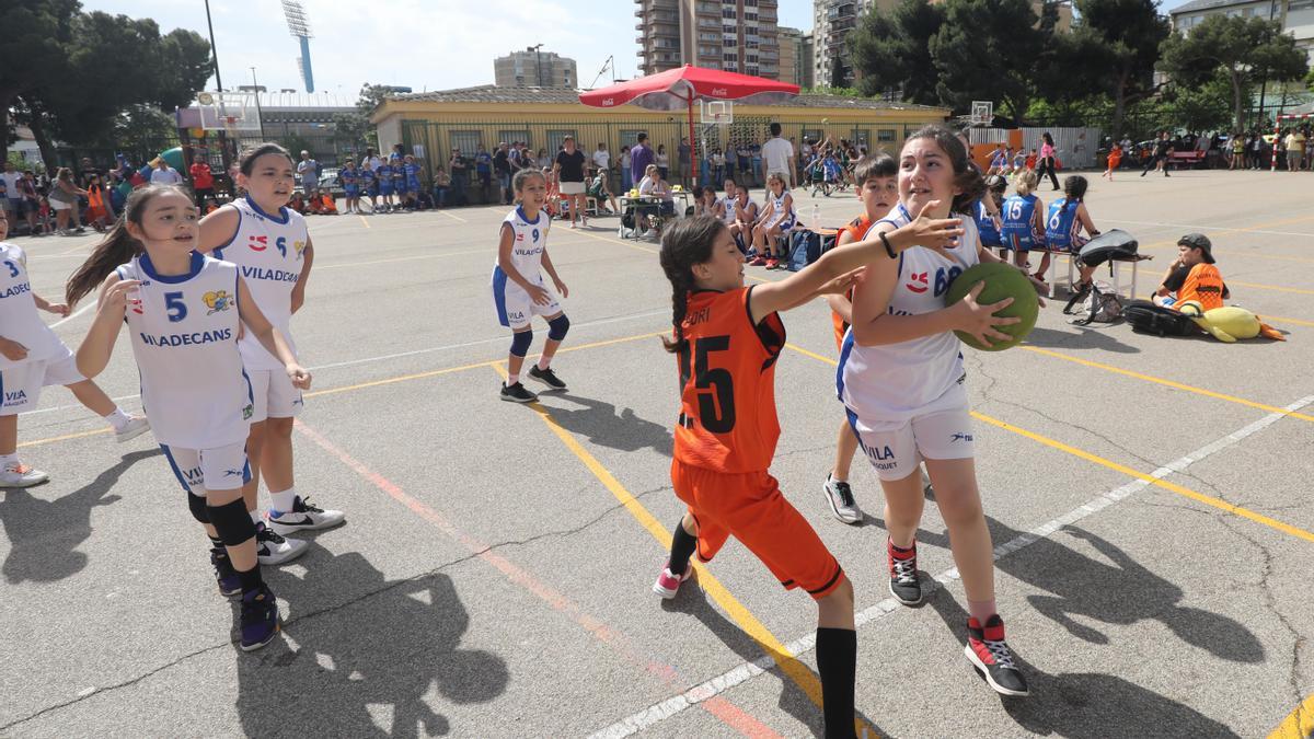
[[[853,586],[844,569],[767,472],[779,438],[775,362],[784,347],[779,312],[819,295],[842,293],[853,271],[895,264],[913,243],[938,246],[962,234],[957,220],[909,220],[883,238],[836,247],[778,283],[744,287],[744,259],[715,218],[677,221],[662,238],[661,264],[671,285],[673,338],[681,413],[671,483],[687,505],[670,558],[653,590],[675,597],[733,534],[786,588],[817,604],[817,672],[825,736],[854,736],[857,634]]]

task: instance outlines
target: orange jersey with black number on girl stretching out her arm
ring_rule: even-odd
[[[681,413],[675,459],[716,472],[771,465],[781,423],[775,416],[775,360],[784,323],[773,313],[753,325],[753,288],[690,296],[677,354]]]

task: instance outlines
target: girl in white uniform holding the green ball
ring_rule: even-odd
[[[962,213],[983,191],[962,141],[942,126],[926,126],[908,138],[900,154],[899,204],[867,238],[905,227],[912,213],[924,218]],[[982,284],[945,305],[958,275],[982,262],[999,262],[980,245],[972,218],[963,217],[963,225],[966,233],[947,249],[913,247],[899,260],[876,260],[866,268],[854,291],[853,326],[837,383],[859,448],[886,494],[891,594],[905,605],[922,598],[916,533],[925,504],[917,464],[925,462],[967,592],[967,659],[995,690],[1025,696],[1026,680],[1013,663],[995,608],[993,546],[976,487],[962,343],[953,333],[991,343],[1009,339],[999,327],[1017,320],[993,316],[1013,298],[978,304]]]

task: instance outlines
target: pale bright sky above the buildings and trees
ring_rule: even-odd
[[[1167,0],[1163,9],[1185,0]],[[543,43],[576,60],[579,83],[593,80],[607,57],[616,76],[639,76],[635,8],[629,0],[301,0],[314,38],[315,93],[352,104],[364,83],[451,89],[493,83],[493,59]],[[208,36],[202,0],[83,0],[87,11],[151,17]],[[527,9],[530,12],[527,12]],[[812,0],[779,0],[779,25],[812,28]],[[304,92],[301,51],[279,0],[210,0],[214,43],[225,89],[251,84]],[[519,29],[519,30],[511,30]],[[511,38],[516,41],[511,41]],[[611,71],[597,87],[611,82]],[[208,83],[214,89],[214,79]]]

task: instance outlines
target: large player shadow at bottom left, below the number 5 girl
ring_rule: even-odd
[[[510,675],[495,654],[461,648],[470,618],[452,579],[386,580],[359,552],[311,547],[305,579],[265,569],[290,623],[285,638],[237,655],[243,732],[477,735],[482,727],[453,726],[430,702],[491,701]]]

